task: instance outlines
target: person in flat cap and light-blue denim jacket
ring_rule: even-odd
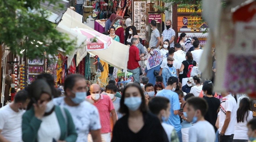
[[[176,68],[173,66],[173,61],[174,61],[173,57],[168,57],[167,58],[167,66],[165,66],[162,70],[164,87],[167,86],[168,78],[170,78],[172,76],[177,78]]]

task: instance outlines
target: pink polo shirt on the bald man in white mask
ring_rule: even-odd
[[[87,99],[91,99],[91,95],[86,97]],[[110,111],[115,109],[113,103],[107,95],[100,94],[100,99],[97,102],[94,102],[94,105],[99,111],[100,114],[100,124],[101,129],[100,133],[109,133],[110,129]]]

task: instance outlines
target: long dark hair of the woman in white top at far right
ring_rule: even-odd
[[[246,120],[249,115],[249,110],[251,110],[250,100],[248,98],[243,98],[240,101],[239,108],[236,111],[237,123],[243,122],[246,115]]]

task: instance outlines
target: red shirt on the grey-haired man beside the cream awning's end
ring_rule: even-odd
[[[140,67],[139,61],[140,61],[140,55],[139,55],[139,49],[132,45],[129,49],[129,60],[127,62],[127,69],[134,70],[135,68]]]

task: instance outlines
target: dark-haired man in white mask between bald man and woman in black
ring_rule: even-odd
[[[106,86],[106,95],[108,95],[113,102],[114,108],[115,108],[115,113],[117,114],[117,118],[120,119],[123,115],[118,112],[120,108],[120,100],[121,98],[115,97],[115,93],[117,91],[117,87],[114,84],[108,84]]]

